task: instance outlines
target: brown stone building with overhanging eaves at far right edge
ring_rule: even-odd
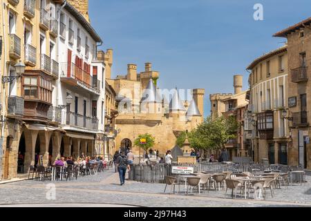
[[[289,164],[311,169],[311,18],[281,30],[274,37],[288,39],[288,119],[292,141]]]

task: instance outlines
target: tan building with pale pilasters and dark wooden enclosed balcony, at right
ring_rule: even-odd
[[[254,161],[288,164],[288,47],[283,46],[258,57],[247,70],[249,75],[249,122],[252,122]]]

